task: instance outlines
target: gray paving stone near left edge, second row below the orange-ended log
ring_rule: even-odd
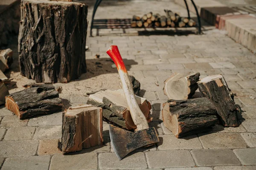
[[[4,141],[30,140],[35,133],[35,127],[11,127],[4,136]]]

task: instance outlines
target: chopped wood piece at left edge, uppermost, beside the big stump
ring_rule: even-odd
[[[0,70],[5,72],[10,68],[13,59],[12,59],[12,50],[10,48],[6,50],[0,50]]]

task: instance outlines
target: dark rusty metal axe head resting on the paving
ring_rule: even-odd
[[[159,142],[157,131],[154,127],[130,132],[119,127],[109,125],[110,139],[112,147],[119,160],[128,153],[140,147]]]

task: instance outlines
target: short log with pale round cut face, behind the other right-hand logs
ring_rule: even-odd
[[[164,81],[163,92],[168,96],[168,99],[189,99],[198,89],[196,82],[198,82],[199,76],[200,73],[189,74],[187,76],[179,73],[172,74],[171,77]]]

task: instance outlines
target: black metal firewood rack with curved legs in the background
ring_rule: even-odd
[[[90,27],[90,36],[91,37],[92,37],[92,33],[93,33],[93,28],[96,28],[96,29],[131,28],[131,19],[98,19],[98,20],[94,20],[96,10],[101,2],[102,2],[102,0],[96,0],[94,7],[93,7],[93,16],[92,16],[91,27]],[[188,18],[190,19],[190,14],[189,14],[190,11],[189,11],[188,4],[187,4],[186,0],[184,0],[184,2],[186,4]],[[199,14],[198,14],[198,9],[195,6],[194,1],[191,0],[191,2],[195,8],[196,15],[197,15],[198,33],[201,34],[201,20],[200,20]]]

